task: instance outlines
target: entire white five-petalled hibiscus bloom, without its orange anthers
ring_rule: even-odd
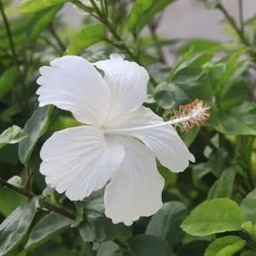
[[[85,125],[53,133],[45,142],[40,171],[46,183],[73,201],[106,186],[105,214],[113,223],[131,225],[156,213],[164,179],[155,157],[173,172],[195,158],[168,122],[143,107],[147,71],[116,54],[94,63],[104,77],[77,56],[50,65],[39,69],[39,106],[71,111]]]

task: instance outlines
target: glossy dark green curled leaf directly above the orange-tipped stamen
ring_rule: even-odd
[[[157,86],[154,98],[160,107],[178,109],[179,105],[201,99],[209,103],[213,96],[207,73],[200,67],[185,67],[175,73],[172,83]]]

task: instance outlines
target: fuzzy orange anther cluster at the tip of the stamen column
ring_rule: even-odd
[[[203,105],[203,101],[196,99],[193,103],[180,105],[179,111],[173,111],[170,122],[175,126],[181,127],[182,131],[191,130],[209,119],[209,109],[209,105]]]

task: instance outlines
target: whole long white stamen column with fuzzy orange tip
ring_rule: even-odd
[[[209,117],[209,109],[211,107],[203,104],[203,101],[195,99],[187,105],[180,105],[179,110],[176,109],[171,113],[171,119],[166,122],[155,123],[152,125],[143,125],[140,127],[122,128],[122,129],[104,129],[107,134],[123,134],[130,131],[141,131],[143,129],[163,127],[165,125],[178,126],[182,131],[193,129],[195,126],[200,126],[205,123]]]

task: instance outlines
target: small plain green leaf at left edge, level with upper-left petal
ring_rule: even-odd
[[[11,67],[3,72],[0,77],[0,99],[13,90],[17,78],[17,68]]]

